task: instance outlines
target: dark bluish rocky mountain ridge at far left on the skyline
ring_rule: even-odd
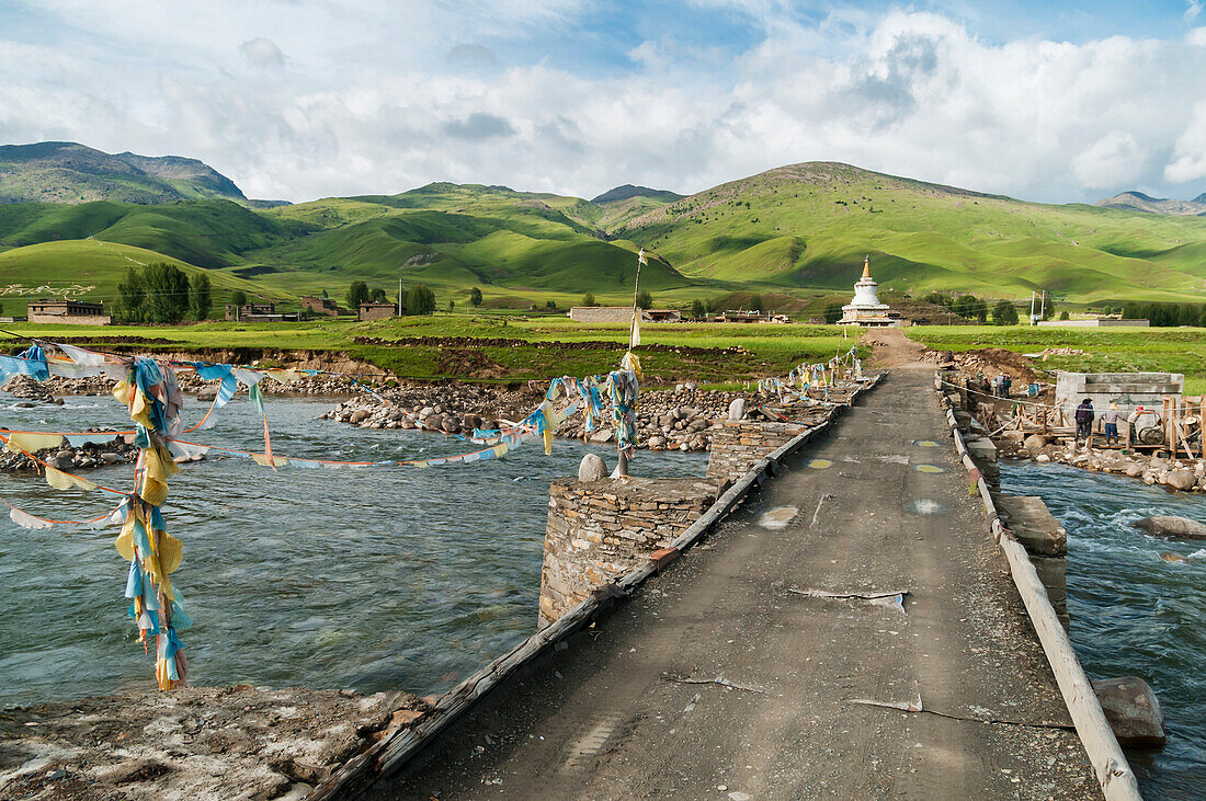
[[[247,200],[230,178],[197,159],[111,154],[77,142],[0,146],[0,204],[209,199]]]

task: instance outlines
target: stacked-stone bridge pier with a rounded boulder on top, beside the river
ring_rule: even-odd
[[[715,497],[714,483],[693,478],[552,482],[540,571],[540,628],[667,547]]]

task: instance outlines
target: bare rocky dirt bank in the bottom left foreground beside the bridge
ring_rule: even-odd
[[[300,799],[429,705],[405,693],[185,688],[0,713],[0,797]]]

